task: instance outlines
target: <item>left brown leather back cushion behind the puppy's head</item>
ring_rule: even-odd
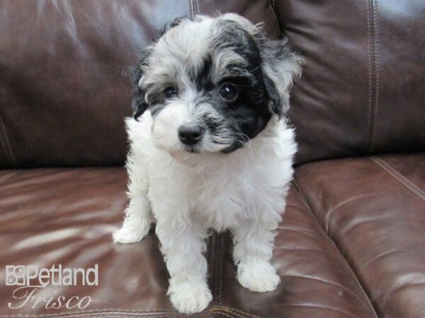
[[[129,66],[166,23],[218,10],[278,36],[266,0],[0,0],[0,167],[122,165]]]

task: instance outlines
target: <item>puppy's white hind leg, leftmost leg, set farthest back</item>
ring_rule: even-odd
[[[139,242],[149,232],[152,212],[147,194],[149,180],[147,165],[130,154],[127,163],[130,182],[128,197],[130,204],[125,211],[123,227],[113,233],[115,243]]]

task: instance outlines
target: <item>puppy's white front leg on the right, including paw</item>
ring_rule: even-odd
[[[271,266],[274,230],[278,222],[247,220],[234,229],[233,258],[239,283],[256,292],[275,290],[280,277]]]

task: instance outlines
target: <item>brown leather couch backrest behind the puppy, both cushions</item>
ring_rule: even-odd
[[[121,165],[128,66],[166,22],[237,12],[307,63],[298,163],[425,148],[421,1],[0,0],[0,167]]]

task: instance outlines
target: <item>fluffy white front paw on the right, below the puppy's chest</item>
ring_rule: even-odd
[[[249,290],[263,293],[275,290],[280,283],[276,270],[267,261],[250,260],[240,263],[237,269],[239,283]]]

